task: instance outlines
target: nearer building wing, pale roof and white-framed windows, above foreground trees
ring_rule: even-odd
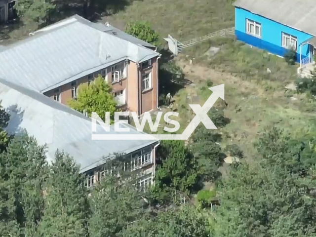
[[[0,100],[1,106],[10,114],[6,131],[20,134],[26,129],[39,145],[46,145],[48,163],[54,161],[57,149],[73,157],[80,166],[80,173],[87,175],[84,185],[88,188],[102,180],[104,175],[118,170],[137,175],[140,189],[147,189],[152,184],[158,139],[92,140],[90,118],[40,92],[3,79],[0,79]],[[121,126],[129,128],[126,134],[143,134],[129,124]],[[96,133],[117,134],[114,125],[111,125],[110,132],[105,132],[99,124]]]

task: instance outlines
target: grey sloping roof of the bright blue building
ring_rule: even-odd
[[[316,36],[315,0],[236,0],[234,5]]]

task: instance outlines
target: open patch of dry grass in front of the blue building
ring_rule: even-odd
[[[257,156],[253,141],[265,129],[278,126],[292,137],[315,132],[314,102],[284,90],[288,82],[296,79],[295,67],[289,67],[282,58],[234,41],[224,44],[213,58],[207,58],[203,54],[209,46],[205,42],[190,49],[186,52],[189,56],[182,55],[178,64],[188,79],[195,79],[199,85],[201,104],[209,95],[205,90],[207,80],[214,85],[225,83],[225,101],[229,105],[225,116],[232,120],[221,130],[223,146],[238,144],[248,160],[253,160]],[[193,57],[194,63],[189,64]],[[272,73],[267,73],[267,68]],[[292,101],[293,95],[298,100]]]

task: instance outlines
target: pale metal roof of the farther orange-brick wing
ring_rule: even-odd
[[[159,55],[93,26],[73,16],[7,46],[0,51],[0,78],[45,92],[117,61],[143,62]]]

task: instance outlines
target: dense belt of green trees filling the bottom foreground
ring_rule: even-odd
[[[133,176],[106,176],[87,190],[72,158],[57,152],[48,164],[45,147],[27,134],[16,136],[0,155],[1,235],[313,237],[314,137],[292,139],[276,127],[265,131],[254,143],[262,157],[258,165],[234,163],[216,189],[197,193],[199,208],[190,202],[176,207],[173,200],[156,205],[150,193],[135,189]],[[153,189],[192,190],[199,166],[190,150],[180,141],[164,142],[160,149]],[[214,209],[215,197],[220,206]]]

